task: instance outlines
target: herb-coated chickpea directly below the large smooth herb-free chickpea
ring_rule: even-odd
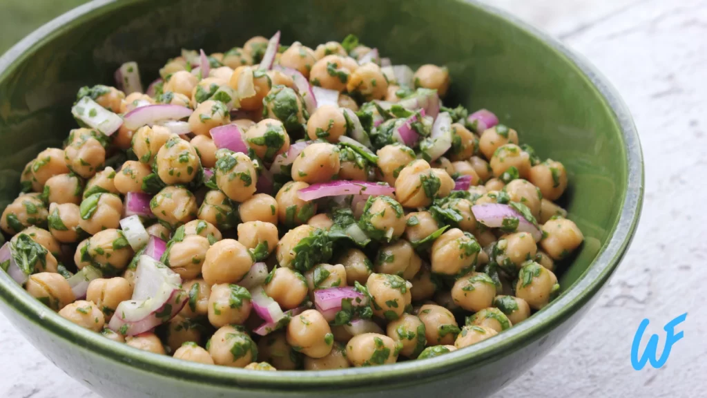
[[[219,328],[228,324],[243,324],[251,309],[250,292],[243,286],[228,283],[211,286],[209,323],[212,326]]]

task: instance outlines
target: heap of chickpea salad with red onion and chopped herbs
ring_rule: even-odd
[[[548,305],[584,239],[564,166],[444,103],[445,67],[278,32],[141,79],[79,89],[0,218],[1,268],[107,339],[253,370],[431,358]]]

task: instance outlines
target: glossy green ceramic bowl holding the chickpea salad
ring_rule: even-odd
[[[25,162],[75,127],[79,87],[111,84],[136,60],[146,82],[181,47],[223,51],[282,30],[315,45],[355,33],[395,63],[446,64],[448,103],[489,108],[541,157],[565,164],[565,203],[585,243],[562,295],[502,334],[445,356],[377,368],[255,372],[137,351],[49,311],[0,273],[0,307],[42,353],[105,397],[484,397],[518,377],[579,321],[617,268],[643,198],[641,147],[618,94],[584,59],[503,13],[458,0],[94,1],[0,58],[0,208]],[[561,365],[561,364],[558,364]]]

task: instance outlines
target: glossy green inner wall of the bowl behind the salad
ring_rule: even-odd
[[[586,238],[560,271],[563,290],[581,279],[619,224],[627,152],[609,103],[563,52],[485,8],[458,0],[94,3],[70,23],[30,35],[25,41],[38,41],[28,50],[0,59],[0,209],[16,197],[25,163],[76,127],[69,109],[79,87],[112,85],[127,60],[139,62],[146,85],[182,47],[223,52],[281,30],[286,44],[315,46],[354,33],[394,64],[446,64],[447,105],[493,110],[540,157],[561,161],[570,181],[561,204]]]

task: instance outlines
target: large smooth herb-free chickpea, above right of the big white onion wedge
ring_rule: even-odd
[[[237,283],[252,265],[250,253],[243,244],[234,239],[223,239],[206,251],[201,274],[209,285]]]

